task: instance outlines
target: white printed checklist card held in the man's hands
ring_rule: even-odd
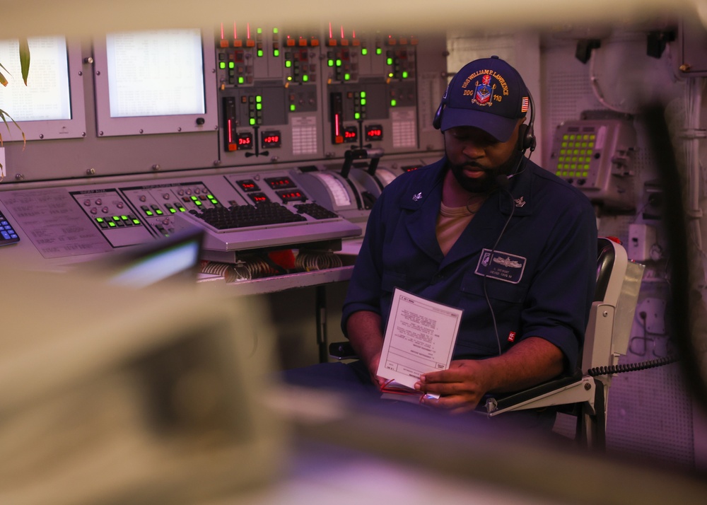
[[[418,394],[423,373],[449,368],[462,310],[426,300],[402,289],[393,291],[378,376],[384,393]]]

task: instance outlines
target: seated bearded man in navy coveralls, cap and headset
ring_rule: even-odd
[[[574,371],[595,289],[596,220],[581,192],[525,157],[532,106],[502,59],[455,74],[434,119],[445,156],[400,175],[371,211],[341,321],[360,361],[339,370],[382,385],[397,287],[463,309],[450,368],[416,384],[440,395],[423,400],[430,407],[467,412],[486,393]]]

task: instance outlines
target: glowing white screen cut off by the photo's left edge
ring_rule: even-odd
[[[11,125],[3,140],[22,140],[22,133],[28,140],[85,136],[80,47],[69,47],[65,37],[29,38],[25,86],[19,45],[18,40],[0,41],[0,72],[8,81],[0,86],[0,109],[19,127]]]

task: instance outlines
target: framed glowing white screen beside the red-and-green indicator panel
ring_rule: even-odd
[[[199,29],[110,33],[95,42],[98,135],[215,131],[214,50],[204,47]]]

